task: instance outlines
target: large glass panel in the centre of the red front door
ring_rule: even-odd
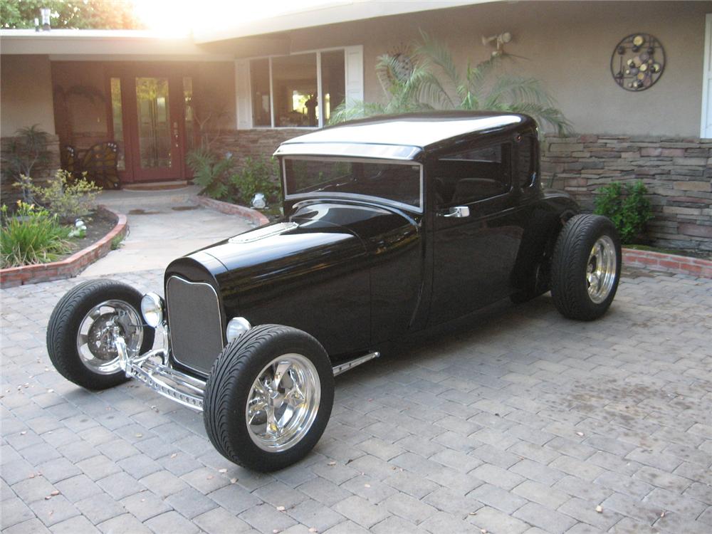
[[[142,169],[169,169],[171,117],[168,78],[136,78],[138,144]]]

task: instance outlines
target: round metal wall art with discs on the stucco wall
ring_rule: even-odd
[[[649,33],[632,33],[613,49],[611,74],[627,91],[651,88],[665,68],[665,49]]]

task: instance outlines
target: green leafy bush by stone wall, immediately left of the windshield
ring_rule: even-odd
[[[263,157],[246,157],[243,167],[230,177],[231,201],[250,206],[256,193],[262,193],[268,204],[281,201],[281,187],[278,184],[279,164]]]

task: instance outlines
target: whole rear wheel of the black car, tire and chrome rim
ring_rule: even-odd
[[[613,223],[600,215],[575,215],[554,248],[551,296],[567,318],[594,320],[606,313],[618,289],[621,244]]]

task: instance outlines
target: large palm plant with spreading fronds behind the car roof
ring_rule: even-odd
[[[413,46],[414,68],[409,73],[402,73],[396,56],[379,57],[377,74],[386,103],[342,104],[331,122],[433,109],[492,110],[525,113],[559,134],[570,131],[570,122],[539,80],[502,71],[503,62],[511,56],[497,54],[475,66],[468,61],[463,74],[449,48],[423,31],[421,36],[422,41]]]

